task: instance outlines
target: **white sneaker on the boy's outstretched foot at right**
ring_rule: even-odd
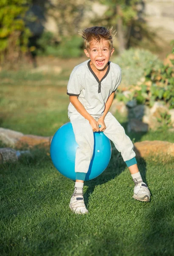
[[[135,185],[134,195],[132,196],[132,198],[139,200],[139,201],[149,202],[150,201],[150,191],[148,189],[148,186],[143,182],[138,185]]]

